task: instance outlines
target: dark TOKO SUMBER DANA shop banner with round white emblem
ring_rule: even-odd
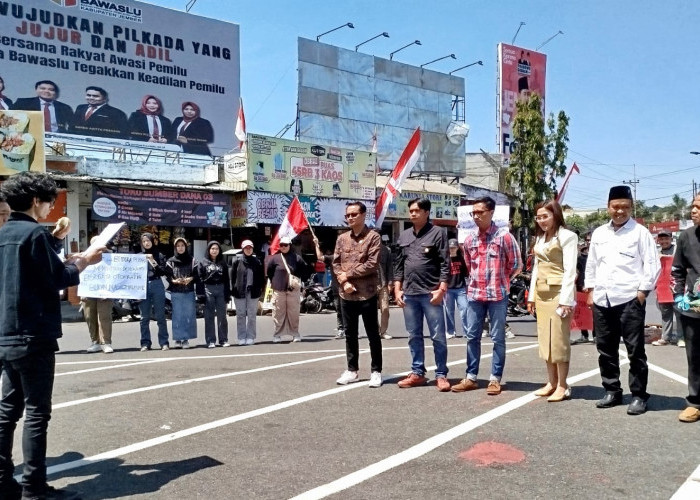
[[[92,188],[92,218],[159,226],[228,227],[231,196],[115,186]]]

